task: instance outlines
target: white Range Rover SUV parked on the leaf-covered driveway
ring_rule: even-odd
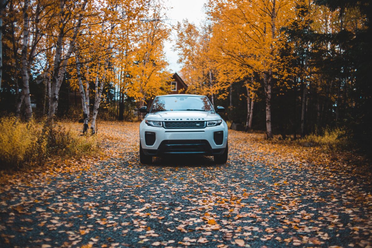
[[[187,94],[157,96],[140,124],[140,161],[149,164],[155,156],[202,154],[224,164],[228,156],[227,124],[208,97]],[[217,112],[217,113],[216,113]]]

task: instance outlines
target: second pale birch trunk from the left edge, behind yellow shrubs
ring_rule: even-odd
[[[29,1],[25,0],[23,5],[23,45],[22,45],[22,81],[23,81],[23,96],[25,97],[25,112],[26,120],[32,118],[29,75],[27,70],[27,48],[28,48],[28,6]]]

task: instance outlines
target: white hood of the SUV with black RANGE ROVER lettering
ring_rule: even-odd
[[[146,120],[157,121],[192,121],[219,120],[221,116],[206,111],[163,111],[146,115]]]

